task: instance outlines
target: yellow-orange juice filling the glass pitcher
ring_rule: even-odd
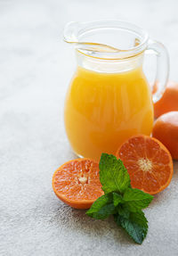
[[[120,73],[77,68],[65,102],[65,127],[78,155],[99,160],[126,138],[150,135],[153,104],[142,67]]]

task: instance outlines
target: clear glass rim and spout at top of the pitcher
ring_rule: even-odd
[[[140,41],[138,45],[124,50],[119,50],[111,45],[80,41],[79,37],[85,34],[85,32],[94,29],[125,29],[127,32],[137,34],[140,37]],[[100,60],[112,61],[133,58],[145,51],[148,40],[149,34],[147,31],[127,21],[71,21],[67,23],[64,29],[65,42],[75,45],[78,53]],[[103,51],[95,50],[98,46]]]

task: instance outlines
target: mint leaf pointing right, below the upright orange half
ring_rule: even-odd
[[[143,208],[148,207],[152,199],[152,195],[146,194],[137,188],[127,188],[123,196],[125,205],[129,211],[133,212],[140,211]]]

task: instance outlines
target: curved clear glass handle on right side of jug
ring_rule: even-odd
[[[157,56],[157,74],[155,84],[157,84],[157,91],[153,94],[153,103],[157,103],[166,90],[166,84],[169,76],[169,56],[166,47],[154,40],[149,40],[146,51],[153,51]]]

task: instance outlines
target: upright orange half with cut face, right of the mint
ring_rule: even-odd
[[[150,136],[132,136],[117,150],[127,169],[131,186],[145,193],[157,194],[169,185],[173,161],[166,147]]]

